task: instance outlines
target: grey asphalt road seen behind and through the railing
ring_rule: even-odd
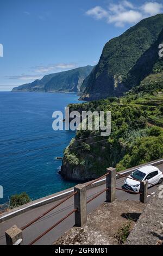
[[[157,166],[160,170],[163,171],[163,164]],[[124,184],[124,178],[118,179],[117,187],[122,188]],[[87,199],[93,197],[96,193],[101,192],[105,188],[105,185],[101,185],[98,187],[90,188],[87,190]],[[148,188],[148,193],[154,193],[155,187]],[[148,196],[148,199],[151,196]],[[116,198],[118,200],[139,200],[139,194],[131,194],[124,191],[116,190]],[[87,204],[87,212],[91,212],[95,210],[101,203],[105,201],[105,193],[101,194],[101,196],[92,200],[89,204]],[[58,201],[59,202],[59,201]],[[28,222],[32,221],[37,216],[43,214],[46,210],[50,209],[52,206],[57,204],[58,202],[53,202],[47,205],[40,206],[39,208],[24,212],[21,215],[15,216],[8,221],[0,223],[0,245],[6,245],[5,242],[5,230],[12,227],[12,225],[16,224],[17,227],[21,228],[26,225]],[[48,228],[52,227],[57,221],[59,221],[62,217],[66,216],[74,207],[73,197],[67,200],[65,203],[58,206],[58,208],[49,212],[49,214],[42,217],[40,220],[32,224],[27,229],[23,230],[23,243],[24,245],[28,245],[31,241],[33,241],[37,236],[43,233]],[[40,240],[38,240],[35,245],[52,245],[52,243],[58,239],[62,234],[65,233],[68,229],[70,229],[74,225],[74,214],[68,217],[65,221],[60,223],[53,230],[49,231],[45,236],[43,236]]]

